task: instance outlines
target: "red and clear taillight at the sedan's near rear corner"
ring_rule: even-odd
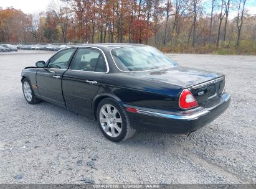
[[[179,107],[181,109],[189,109],[198,106],[196,98],[194,98],[191,91],[184,89],[179,96]]]

